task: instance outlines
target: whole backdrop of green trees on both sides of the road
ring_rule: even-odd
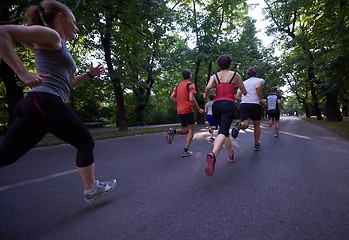
[[[72,9],[80,29],[68,45],[77,74],[91,61],[106,68],[105,75],[72,89],[69,104],[85,122],[105,121],[120,130],[177,122],[169,96],[182,70],[193,72],[203,107],[206,83],[225,53],[233,57],[232,70],[245,79],[249,66],[260,67],[265,96],[272,86],[288,86],[293,105],[298,102],[308,116],[341,120],[348,114],[348,1],[265,0],[265,16],[272,22],[268,33],[275,36],[269,47],[257,38],[245,0],[61,2]],[[2,3],[0,23],[24,24],[27,7],[28,1]],[[275,56],[275,45],[281,56]],[[16,47],[35,71],[32,53]],[[6,129],[16,102],[29,89],[0,61],[0,121]],[[202,123],[203,115],[197,120]]]

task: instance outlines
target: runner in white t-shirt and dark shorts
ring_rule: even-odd
[[[247,95],[242,96],[240,89],[236,94],[238,100],[241,99],[240,104],[240,119],[241,122],[237,122],[233,128],[232,136],[236,138],[240,129],[248,128],[250,121],[253,121],[254,126],[254,150],[259,151],[260,148],[260,136],[261,136],[261,119],[262,119],[262,106],[261,102],[265,103],[265,99],[262,99],[262,88],[264,79],[258,78],[259,68],[252,66],[248,69],[247,75],[250,77],[244,81],[244,85],[247,90]]]

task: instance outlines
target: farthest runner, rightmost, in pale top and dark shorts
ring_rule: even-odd
[[[275,138],[279,137],[280,129],[280,108],[284,110],[282,105],[281,96],[277,94],[277,87],[272,87],[270,95],[267,97],[268,102],[268,117],[269,127],[272,127],[275,121]]]

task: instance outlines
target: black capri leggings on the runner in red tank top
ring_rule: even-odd
[[[212,105],[213,117],[219,125],[218,134],[229,137],[229,129],[235,116],[236,106],[230,100],[218,100]]]

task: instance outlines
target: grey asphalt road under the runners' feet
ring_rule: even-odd
[[[71,146],[35,148],[0,169],[0,239],[349,239],[349,141],[293,117],[279,139],[262,127],[261,150],[240,132],[236,162],[223,149],[213,177],[207,129],[188,158],[179,135],[96,141],[96,178],[119,186],[93,204]]]

